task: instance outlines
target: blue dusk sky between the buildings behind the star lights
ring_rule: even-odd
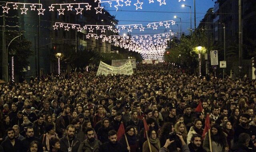
[[[126,2],[127,0],[123,0]],[[156,34],[156,33],[164,33],[169,32],[170,30],[177,32],[177,28],[180,32],[180,19],[182,24],[182,32],[189,34],[190,29],[190,8],[182,7],[182,4],[187,6],[191,6],[192,12],[192,29],[194,28],[194,1],[193,0],[165,0],[166,5],[162,4],[160,6],[160,2],[157,0],[154,3],[149,3],[150,0],[140,0],[139,2],[143,2],[142,9],[138,8],[136,10],[137,0],[130,0],[130,6],[125,6],[124,2],[120,1],[120,5],[123,4],[122,7],[118,7],[118,11],[116,12],[116,8],[114,5],[117,3],[114,1],[112,3],[112,7],[107,5],[104,6],[106,10],[110,12],[111,15],[116,16],[116,19],[119,20],[118,25],[128,25],[128,24],[142,24],[144,28],[144,32],[140,30],[132,29],[131,35],[145,35],[145,34]],[[159,0],[160,1],[160,0]],[[215,1],[215,0],[214,0]],[[196,26],[198,26],[200,20],[204,18],[206,11],[214,7],[214,1],[212,0],[196,0]],[[162,0],[162,2],[164,2]],[[106,3],[104,3],[106,4]],[[140,4],[138,4],[140,6]],[[177,16],[179,18],[174,18]],[[147,28],[148,23],[152,22],[160,22],[160,21],[168,21],[174,20],[175,24],[170,28],[165,28],[165,26],[158,26],[157,30],[153,30],[153,28]],[[165,23],[164,23],[165,24]],[[120,35],[124,33],[127,34],[128,30],[120,30]]]

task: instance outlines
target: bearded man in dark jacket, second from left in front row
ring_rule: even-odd
[[[42,142],[39,140],[39,138],[34,137],[34,129],[33,127],[27,127],[26,128],[26,138],[21,140],[22,145],[23,145],[23,152],[27,152],[29,149],[29,145],[32,141],[38,141],[39,145],[38,145],[38,152],[42,152],[43,151],[43,146],[42,146]]]

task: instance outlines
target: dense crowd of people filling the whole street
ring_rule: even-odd
[[[0,152],[256,152],[255,87],[166,64],[1,84]]]

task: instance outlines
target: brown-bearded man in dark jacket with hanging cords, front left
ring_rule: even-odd
[[[70,124],[67,126],[67,135],[60,138],[60,150],[63,152],[77,152],[80,141],[75,137],[75,127]]]

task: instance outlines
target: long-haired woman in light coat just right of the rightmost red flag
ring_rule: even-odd
[[[228,152],[228,143],[220,125],[212,125],[210,132],[212,140],[212,151],[210,151],[209,134],[206,134],[203,143],[203,148],[206,150],[206,152]]]

